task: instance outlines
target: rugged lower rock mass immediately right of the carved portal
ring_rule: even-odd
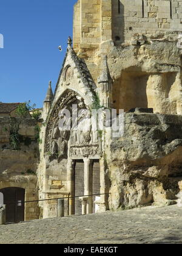
[[[110,208],[176,203],[182,180],[182,116],[126,113],[124,136],[106,149]]]

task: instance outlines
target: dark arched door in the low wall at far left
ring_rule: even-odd
[[[23,188],[3,188],[4,204],[6,205],[6,223],[24,221],[25,190]]]

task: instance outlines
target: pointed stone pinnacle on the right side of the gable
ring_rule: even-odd
[[[101,75],[98,78],[101,105],[104,107],[112,107],[112,78],[110,77],[106,55],[103,57],[101,69]]]

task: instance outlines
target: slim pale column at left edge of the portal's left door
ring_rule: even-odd
[[[73,160],[68,159],[68,161],[67,161],[67,188],[68,188],[68,191],[70,192],[70,197],[73,196],[73,185],[74,185]],[[70,200],[69,200],[69,215],[73,215],[73,213],[74,213],[73,202],[74,202],[74,199],[70,198]]]

